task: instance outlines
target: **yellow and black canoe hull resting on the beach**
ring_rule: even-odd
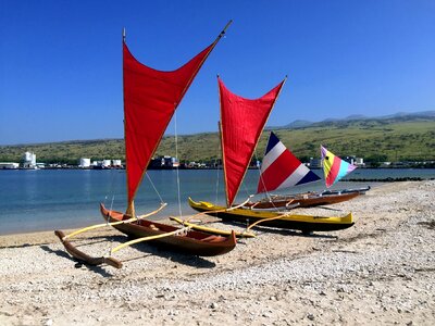
[[[196,202],[190,198],[189,198],[189,205],[194,210],[216,216],[219,218],[222,218],[223,221],[239,222],[244,224],[252,224],[260,220],[273,218],[282,215],[282,213],[277,212],[259,212],[246,208],[235,209],[225,212],[214,212],[214,211],[224,211],[225,208],[217,206],[204,201]],[[355,221],[351,213],[343,217],[289,214],[282,218],[264,221],[260,224],[260,226],[296,229],[296,230],[301,230],[303,233],[310,233],[310,231],[340,230],[351,227]]]

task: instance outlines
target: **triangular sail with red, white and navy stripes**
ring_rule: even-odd
[[[281,142],[275,134],[271,133],[261,164],[257,193],[289,188],[320,179]]]

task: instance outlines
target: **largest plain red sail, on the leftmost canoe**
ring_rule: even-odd
[[[138,62],[124,42],[124,124],[128,202],[132,202],[164,130],[213,42],[184,66],[161,72]]]

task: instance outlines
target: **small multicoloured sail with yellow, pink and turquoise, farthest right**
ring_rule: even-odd
[[[340,178],[345,177],[347,174],[351,173],[357,168],[353,164],[350,164],[340,158],[334,155],[323,146],[321,146],[323,172],[325,174],[325,184],[330,188]]]

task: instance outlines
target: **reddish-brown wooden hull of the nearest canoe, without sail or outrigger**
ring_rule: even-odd
[[[129,218],[121,212],[107,210],[103,204],[100,204],[100,210],[103,218],[109,222]],[[157,236],[178,229],[175,226],[148,220],[119,224],[113,227],[130,238]],[[236,247],[236,237],[234,233],[227,237],[222,237],[202,231],[188,230],[185,235],[169,236],[150,240],[149,242],[187,254],[213,256],[232,251]]]

